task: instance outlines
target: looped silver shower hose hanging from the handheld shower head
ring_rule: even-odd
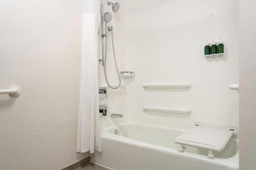
[[[121,77],[120,77],[119,70],[118,70],[118,66],[117,66],[117,63],[116,63],[116,54],[115,54],[115,47],[114,47],[113,31],[111,31],[112,46],[113,46],[113,55],[114,55],[114,60],[115,60],[115,65],[116,65],[116,71],[117,71],[117,74],[118,74],[118,77],[119,77],[119,84],[118,84],[117,87],[111,86],[110,83],[109,83],[109,80],[108,80],[108,78],[107,78],[107,76],[106,76],[106,43],[107,43],[108,37],[106,36],[105,38],[106,38],[106,40],[105,40],[104,75],[105,75],[106,83],[108,83],[109,87],[112,88],[112,89],[117,89],[117,88],[119,88],[120,85],[121,85]]]

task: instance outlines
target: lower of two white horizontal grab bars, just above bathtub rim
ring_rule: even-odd
[[[160,107],[148,107],[143,106],[143,111],[159,111],[166,113],[176,113],[176,114],[192,114],[193,111],[191,109],[169,109],[169,108],[160,108]]]

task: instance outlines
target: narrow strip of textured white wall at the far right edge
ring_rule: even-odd
[[[240,1],[240,169],[256,167],[256,2]]]

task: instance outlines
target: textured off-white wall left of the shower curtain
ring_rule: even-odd
[[[76,153],[82,1],[0,1],[0,169],[59,169]]]

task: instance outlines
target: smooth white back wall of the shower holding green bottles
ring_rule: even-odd
[[[238,127],[238,0],[125,1],[127,88],[132,122],[190,128]],[[222,37],[226,56],[203,57],[205,40]],[[144,90],[145,82],[191,82],[190,90]],[[142,106],[191,108],[188,115],[143,112]]]

